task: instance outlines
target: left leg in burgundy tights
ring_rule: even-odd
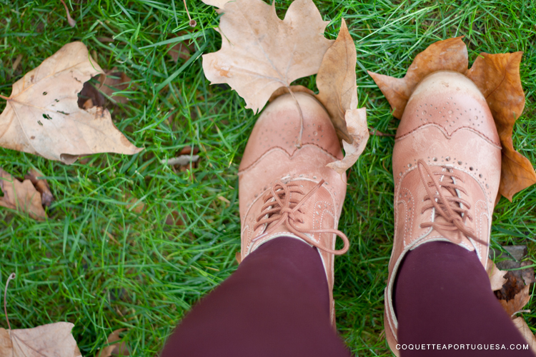
[[[275,238],[188,313],[162,357],[349,356],[329,323],[327,289],[316,248]]]

